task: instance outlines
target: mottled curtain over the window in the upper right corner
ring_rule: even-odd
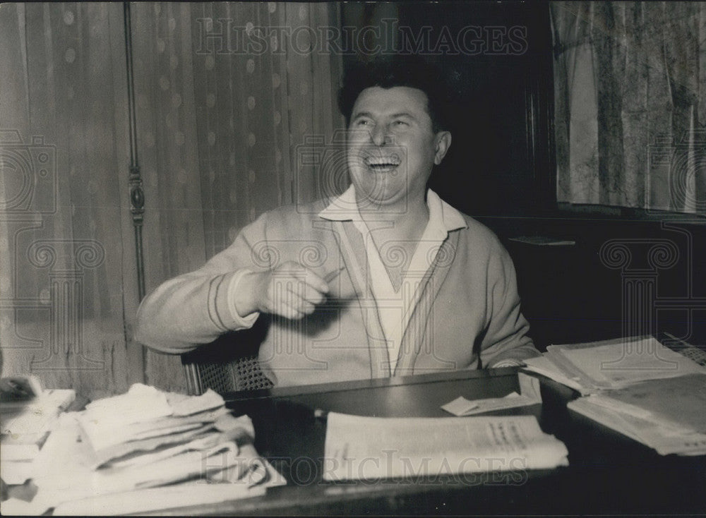
[[[558,201],[706,212],[706,4],[553,2]]]

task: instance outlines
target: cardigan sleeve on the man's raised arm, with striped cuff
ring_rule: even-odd
[[[231,246],[194,272],[160,284],[140,303],[135,339],[157,351],[182,354],[229,330],[251,327],[257,313],[240,316],[233,292],[244,272],[268,269],[267,215],[241,230]]]

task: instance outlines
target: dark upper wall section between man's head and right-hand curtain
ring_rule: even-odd
[[[453,143],[431,188],[469,215],[551,209],[556,167],[548,4],[425,1],[380,9],[344,4],[343,25],[375,28],[381,37],[369,40],[369,48],[382,40],[384,50],[395,40],[395,52],[436,64],[448,85]],[[344,55],[344,67],[373,54]]]

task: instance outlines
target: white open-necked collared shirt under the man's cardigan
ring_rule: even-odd
[[[431,189],[426,191],[426,205],[429,208],[429,222],[417,243],[412,260],[404,272],[400,289],[395,291],[393,282],[385,269],[378,250],[371,237],[371,231],[362,219],[355,199],[354,186],[333,200],[319,216],[332,221],[352,221],[354,227],[363,236],[366,256],[368,259],[369,280],[373,297],[378,308],[378,316],[385,334],[390,359],[390,372],[395,372],[397,356],[405,329],[421,296],[419,283],[424,279],[429,266],[433,263],[441,244],[452,230],[467,227],[465,219],[455,208]],[[388,248],[388,244],[390,248]],[[388,255],[396,253],[391,247],[395,243],[385,243],[383,248]],[[401,250],[397,251],[403,253]]]

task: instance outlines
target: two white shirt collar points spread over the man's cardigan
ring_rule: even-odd
[[[431,189],[426,191],[426,206],[429,207],[429,227],[443,232],[450,232],[468,227],[463,215],[454,207],[439,198]],[[344,193],[335,198],[319,217],[330,221],[361,221],[355,200],[355,188],[351,184]]]

